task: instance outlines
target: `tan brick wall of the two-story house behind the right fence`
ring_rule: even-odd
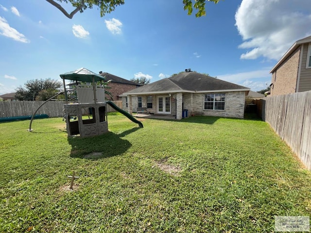
[[[296,91],[298,65],[301,47],[298,47],[276,70],[272,73],[273,86],[271,96],[294,93]]]

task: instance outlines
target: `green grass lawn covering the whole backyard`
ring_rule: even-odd
[[[82,139],[62,118],[1,123],[0,232],[274,232],[274,216],[310,216],[311,172],[265,122],[143,124],[109,114]]]

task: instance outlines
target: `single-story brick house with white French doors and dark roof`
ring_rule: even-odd
[[[244,117],[249,88],[186,70],[127,91],[121,95],[123,110],[132,114],[146,108],[149,114]]]

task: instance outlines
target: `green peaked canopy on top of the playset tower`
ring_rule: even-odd
[[[76,69],[74,71],[70,71],[65,74],[60,74],[59,76],[62,79],[81,81],[81,82],[87,82],[87,83],[92,83],[93,78],[94,78],[94,82],[105,80],[103,76],[100,76],[99,74],[95,74],[94,72],[86,68]]]

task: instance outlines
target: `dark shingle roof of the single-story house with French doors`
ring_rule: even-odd
[[[220,79],[209,77],[197,72],[182,72],[170,78],[150,83],[122,95],[169,93],[169,92],[210,92],[210,91],[229,91],[244,90],[249,88],[229,83]]]

